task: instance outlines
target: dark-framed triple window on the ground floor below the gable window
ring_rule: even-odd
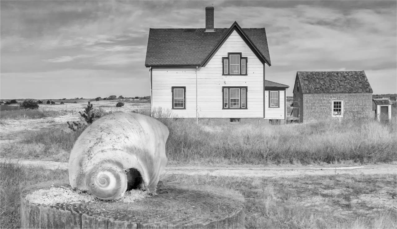
[[[223,109],[247,109],[247,87],[222,87]]]

